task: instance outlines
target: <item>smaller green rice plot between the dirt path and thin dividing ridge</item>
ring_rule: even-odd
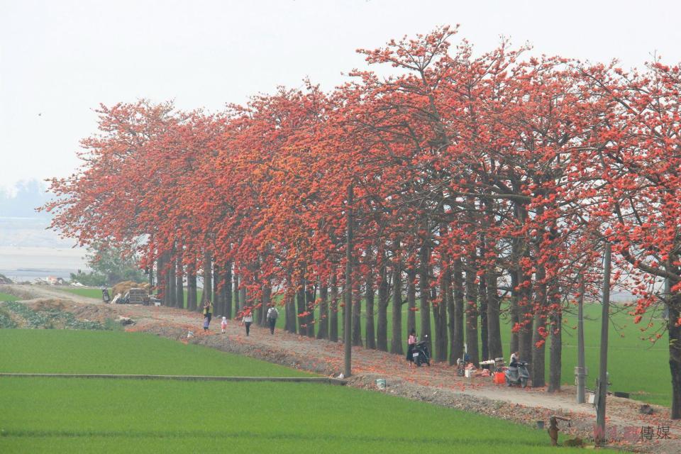
[[[225,340],[227,342],[227,340]],[[0,372],[306,376],[305,372],[147,333],[0,330]]]

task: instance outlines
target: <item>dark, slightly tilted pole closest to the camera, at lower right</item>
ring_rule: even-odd
[[[601,360],[598,378],[598,404],[596,406],[596,445],[604,445],[605,399],[608,394],[608,326],[610,309],[610,243],[605,243],[603,263],[603,311],[601,314]]]

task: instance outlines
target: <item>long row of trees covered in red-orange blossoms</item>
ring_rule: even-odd
[[[140,254],[170,306],[196,309],[202,275],[220,314],[248,304],[262,322],[281,304],[307,336],[336,341],[351,301],[355,345],[402,353],[418,328],[436,360],[466,343],[476,362],[503,355],[511,323],[506,348],[530,360],[534,386],[550,340],[549,391],[563,311],[580,282],[597,287],[609,242],[636,321],[668,310],[680,418],[679,67],[623,72],[506,42],[475,56],[450,46],[455,33],[360,50],[392,75],[354,70],[332,92],[306,83],[220,114],[101,106],[82,166],[52,180],[53,226]]]

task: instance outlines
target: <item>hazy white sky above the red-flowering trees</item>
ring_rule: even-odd
[[[0,0],[0,187],[70,175],[100,102],[216,110],[306,76],[331,89],[363,65],[356,48],[455,23],[479,51],[506,35],[538,54],[679,62],[680,13],[650,0]]]

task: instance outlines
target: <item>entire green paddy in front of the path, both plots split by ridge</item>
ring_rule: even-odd
[[[120,331],[0,330],[1,372],[301,375]],[[313,383],[0,377],[1,453],[482,453],[544,431]]]

